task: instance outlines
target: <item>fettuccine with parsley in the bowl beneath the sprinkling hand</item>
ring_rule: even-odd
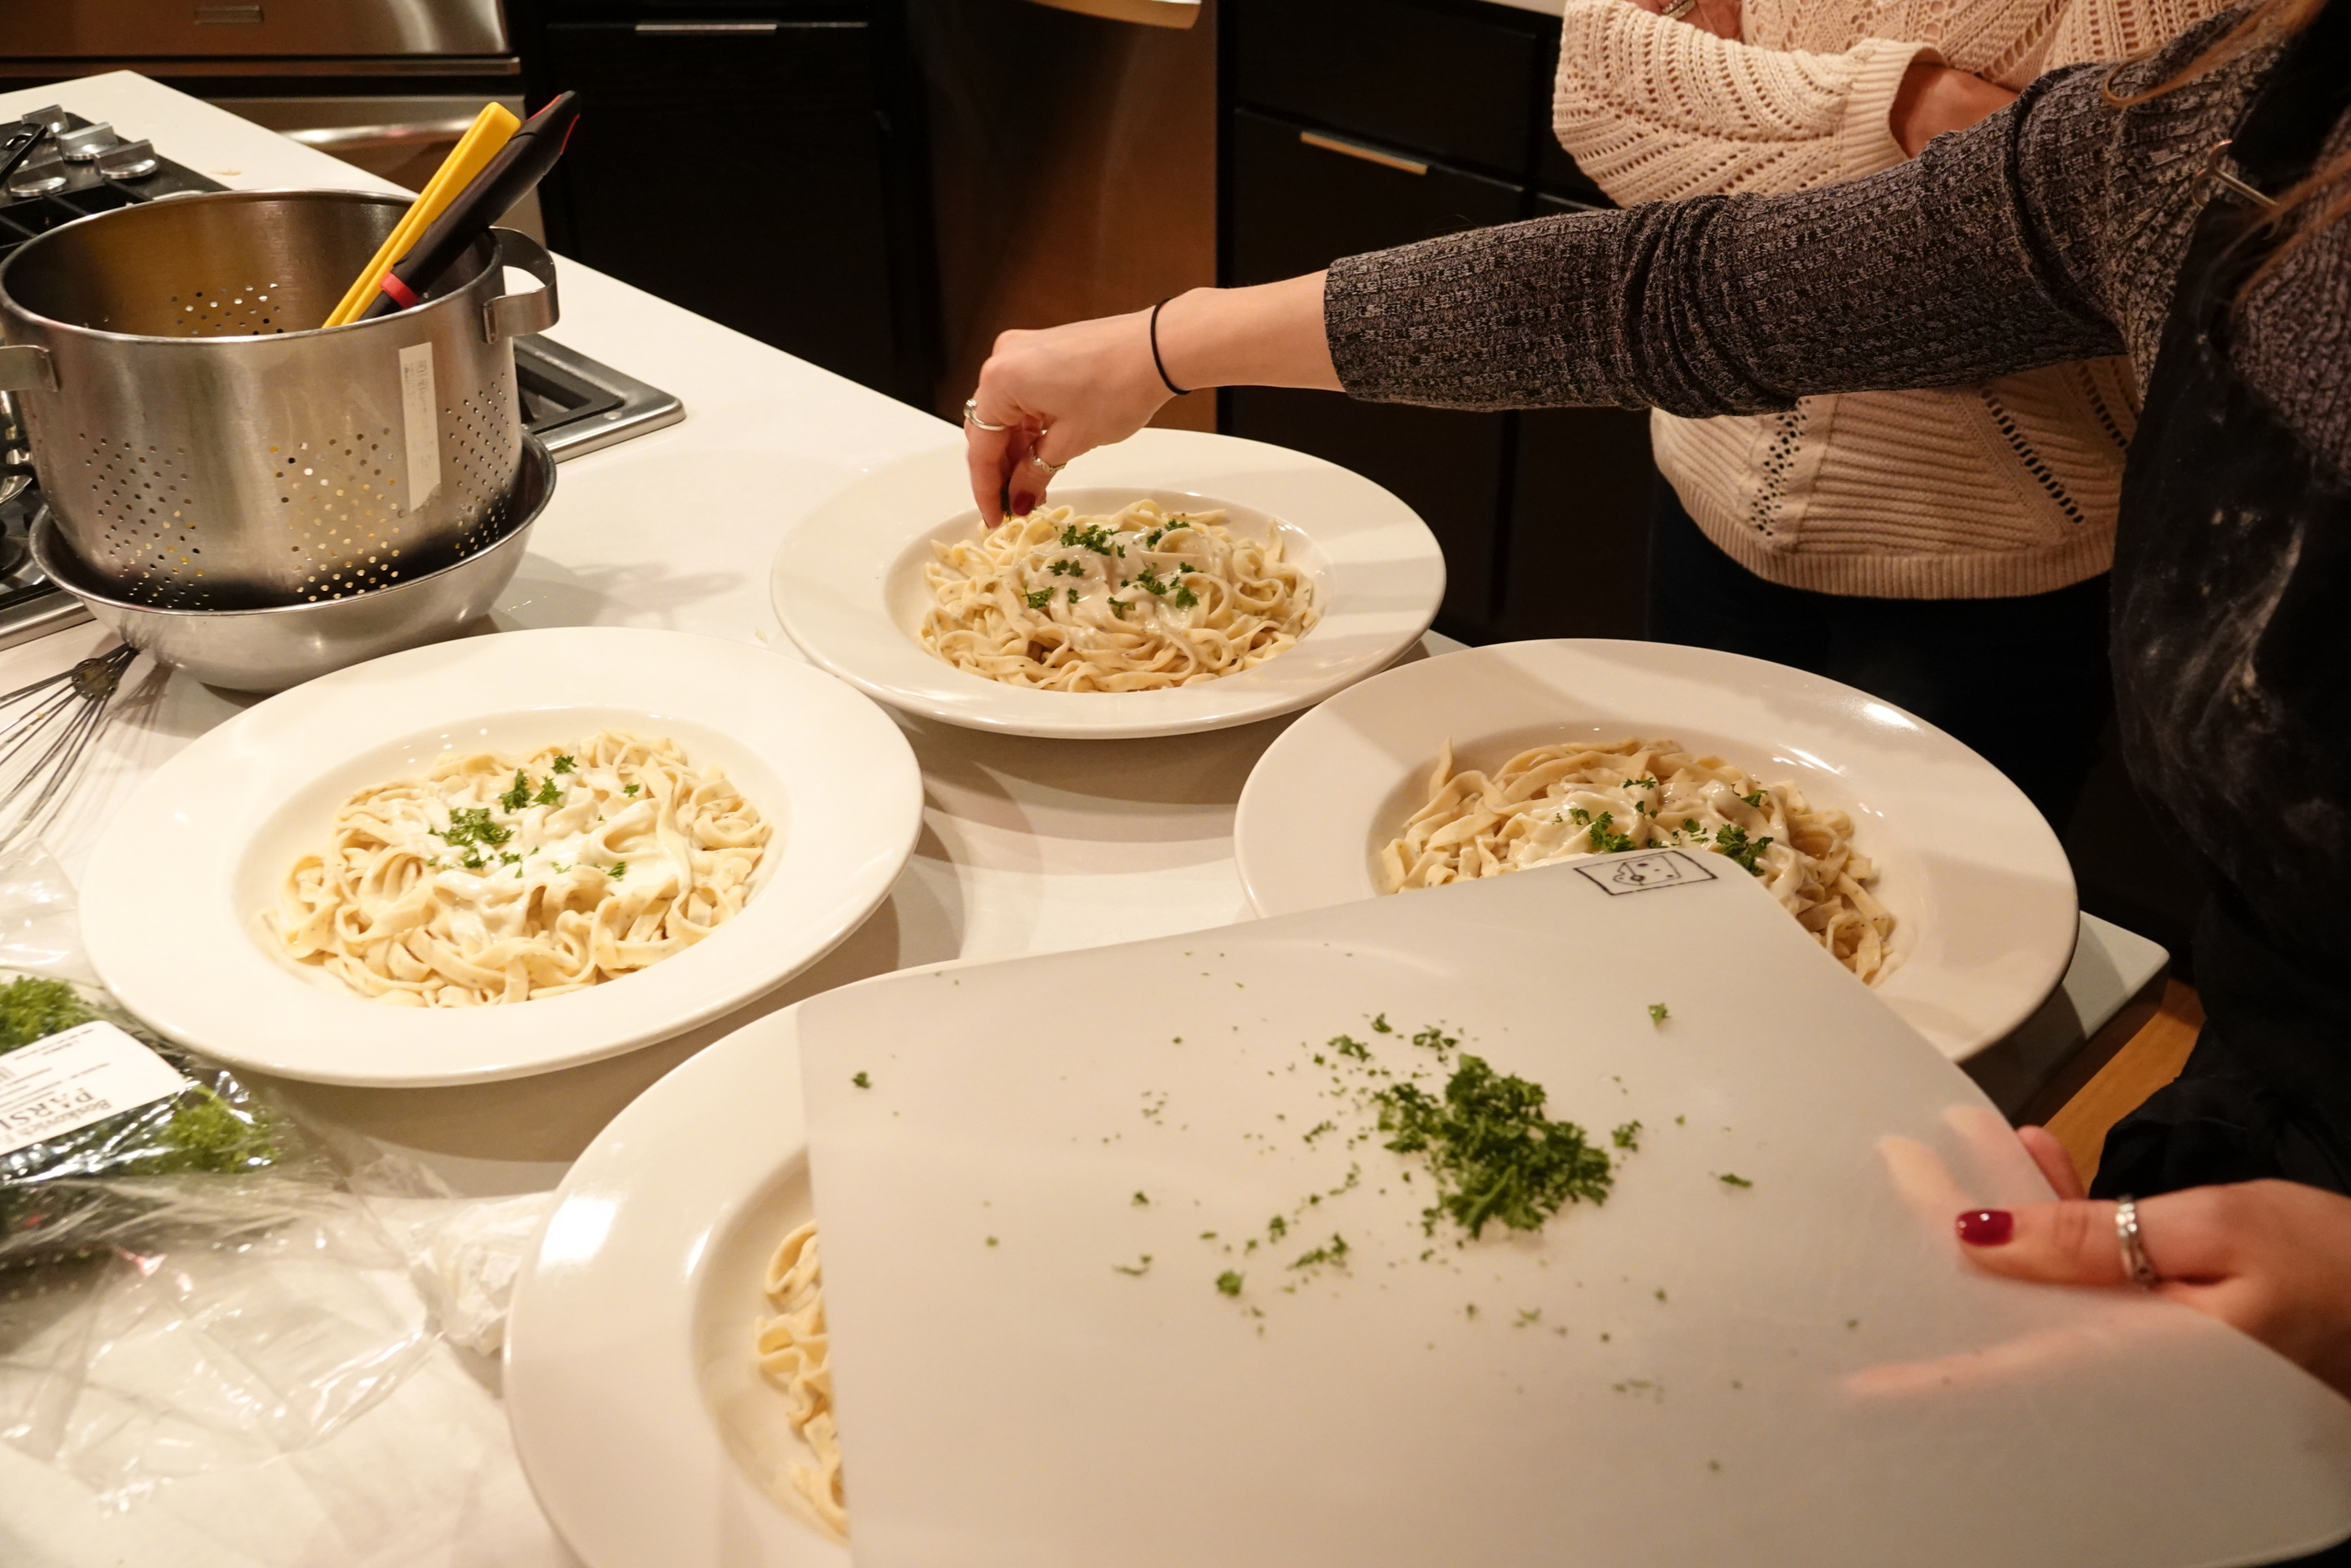
[[[1279,534],[1234,534],[1225,512],[1060,505],[931,548],[922,646],[1011,686],[1190,686],[1265,663],[1319,618]]]

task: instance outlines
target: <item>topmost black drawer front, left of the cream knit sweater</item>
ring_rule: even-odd
[[[1516,174],[1535,132],[1542,42],[1521,16],[1408,0],[1239,0],[1237,101]],[[1556,52],[1556,45],[1554,45]]]

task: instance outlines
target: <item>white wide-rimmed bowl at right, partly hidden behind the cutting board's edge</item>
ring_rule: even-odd
[[[1232,844],[1248,903],[1295,914],[1385,896],[1380,846],[1427,799],[1448,741],[1458,769],[1493,769],[1535,745],[1629,736],[1719,755],[1853,818],[1895,917],[1895,969],[1874,990],[1944,1056],[2003,1039],[2064,978],[2074,870],[1998,769],[1853,686],[1665,642],[1507,642],[1324,703],[1241,790]]]

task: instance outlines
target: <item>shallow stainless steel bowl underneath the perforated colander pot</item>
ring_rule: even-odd
[[[374,592],[268,609],[155,609],[108,595],[59,538],[54,510],[33,520],[33,562],[89,607],[99,625],[207,686],[284,691],[400,649],[456,637],[489,614],[522,564],[522,541],[555,494],[555,458],[522,437],[505,522],[458,562]]]

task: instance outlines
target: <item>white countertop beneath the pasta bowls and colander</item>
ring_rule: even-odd
[[[1502,2],[1559,9],[1559,0]],[[0,94],[0,118],[52,101],[150,136],[167,158],[233,188],[390,190],[129,73]],[[955,425],[571,261],[562,263],[562,306],[552,339],[677,393],[686,421],[562,465],[496,623],[651,625],[797,656],[766,595],[783,529],[860,475],[952,444]],[[0,689],[63,670],[106,642],[85,625],[0,651]],[[1432,639],[1432,651],[1444,646]],[[195,682],[136,670],[127,691],[49,835],[68,872],[129,785],[240,710]],[[849,943],[755,1009],[679,1041],[517,1084],[284,1088],[310,1114],[416,1157],[458,1192],[552,1187],[604,1121],[668,1067],[813,990],[907,964],[1244,919],[1232,809],[1281,724],[1096,745],[905,722],[926,783],[926,832],[912,865]],[[2085,936],[2092,961],[2078,964],[2081,985],[2069,976],[2059,1011],[2095,1030],[2161,966],[2161,950],[2111,926],[2085,924]],[[174,1483],[129,1512],[96,1507],[80,1483],[0,1443],[0,1563],[571,1563],[522,1481],[496,1387],[494,1361],[442,1347],[327,1443]]]

